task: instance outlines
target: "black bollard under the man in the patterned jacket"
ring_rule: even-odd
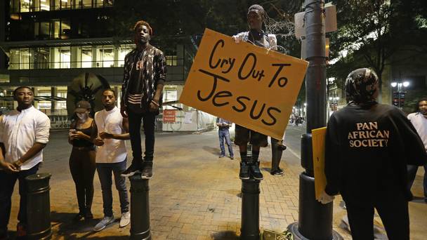
[[[148,179],[140,174],[129,177],[131,181],[131,239],[149,240],[150,232],[150,187]]]

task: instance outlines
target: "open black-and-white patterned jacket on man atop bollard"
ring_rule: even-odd
[[[143,68],[141,69],[143,72],[138,77],[139,81],[143,81],[141,106],[144,103],[150,103],[155,96],[157,84],[164,84],[166,81],[166,60],[163,52],[150,44],[147,45],[144,51]],[[124,105],[128,105],[128,86],[130,79],[133,77],[131,76],[132,68],[135,62],[139,60],[138,55],[140,54],[135,48],[124,58],[124,76],[123,84],[121,85],[121,101],[124,102]],[[162,98],[160,98],[159,104],[162,105]]]

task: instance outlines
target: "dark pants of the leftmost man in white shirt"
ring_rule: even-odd
[[[27,184],[25,177],[37,173],[39,164],[28,170],[18,173],[6,173],[0,171],[0,232],[6,232],[9,218],[11,217],[12,194],[16,180],[19,181],[19,213],[18,220],[22,224],[27,224]]]

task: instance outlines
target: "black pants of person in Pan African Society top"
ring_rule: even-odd
[[[373,205],[362,206],[346,202],[353,240],[374,239],[374,208],[386,228],[388,239],[409,240],[408,201],[405,194],[396,190],[376,195]]]

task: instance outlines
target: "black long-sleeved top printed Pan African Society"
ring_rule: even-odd
[[[381,191],[409,198],[407,164],[423,165],[427,154],[411,122],[390,105],[348,105],[332,114],[327,126],[325,192],[364,204]]]

